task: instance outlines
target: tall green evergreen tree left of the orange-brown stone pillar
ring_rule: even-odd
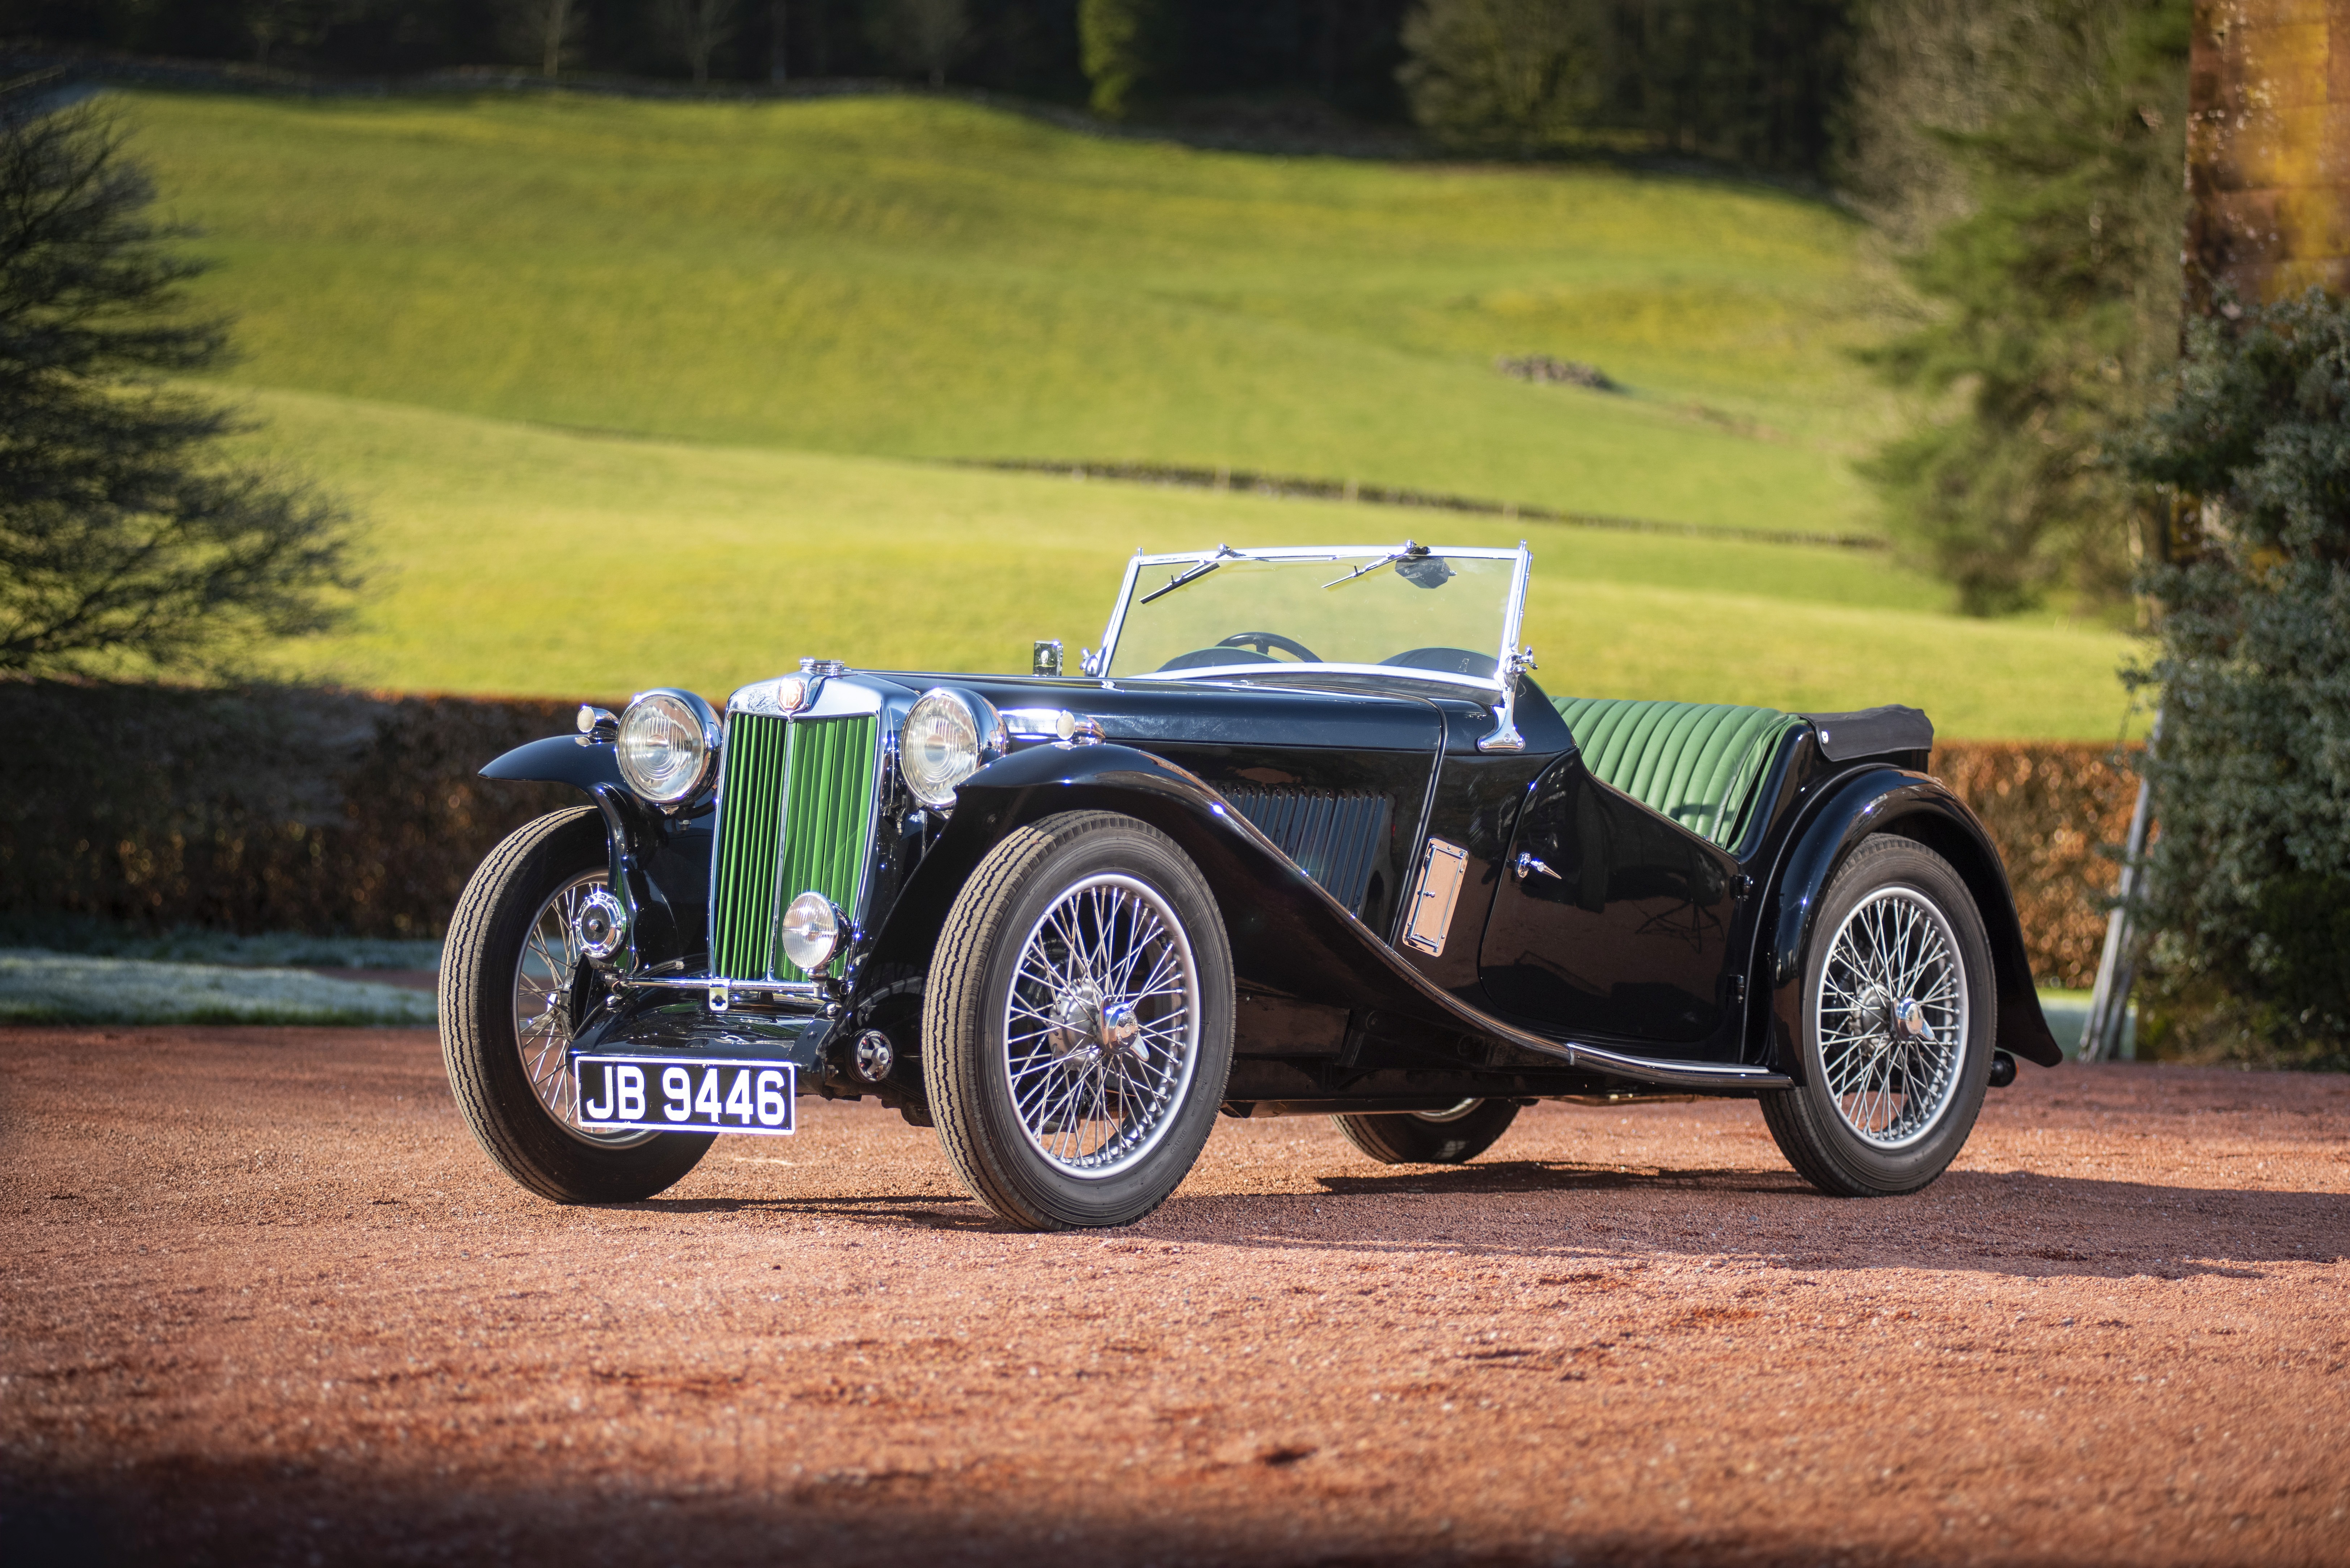
[[[2115,442],[2178,346],[2188,0],[2052,0],[2033,26],[2000,56],[2014,108],[1941,139],[1974,209],[1906,263],[1934,320],[1878,355],[1960,407],[1864,468],[1972,614],[2127,590]]]

